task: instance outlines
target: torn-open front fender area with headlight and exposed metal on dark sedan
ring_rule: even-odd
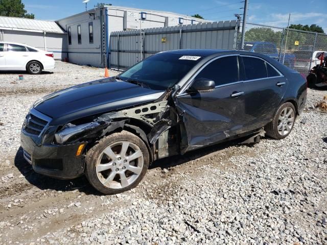
[[[127,130],[145,141],[153,160],[179,154],[179,115],[171,100],[173,94],[167,90],[153,103],[105,113],[86,123],[84,118],[82,124],[68,123],[55,133],[55,144],[87,144],[112,132]]]

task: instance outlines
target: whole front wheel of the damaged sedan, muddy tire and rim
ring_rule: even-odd
[[[86,154],[85,175],[104,194],[134,188],[149,167],[146,144],[136,135],[122,131],[101,139]]]

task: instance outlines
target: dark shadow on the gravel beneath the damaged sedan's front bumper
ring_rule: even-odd
[[[19,147],[15,156],[15,166],[30,184],[41,190],[73,191],[77,189],[85,194],[101,195],[100,192],[88,183],[85,176],[74,180],[58,180],[36,173],[32,166],[24,159],[21,147]]]

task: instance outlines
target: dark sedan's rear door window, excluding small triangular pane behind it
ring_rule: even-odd
[[[242,59],[245,69],[245,80],[267,78],[265,61],[252,57],[242,57]]]

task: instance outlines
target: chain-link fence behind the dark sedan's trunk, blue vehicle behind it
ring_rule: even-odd
[[[240,49],[241,34],[238,46]],[[307,74],[313,66],[320,64],[318,56],[321,52],[327,54],[327,35],[247,23],[244,50],[267,55]]]

